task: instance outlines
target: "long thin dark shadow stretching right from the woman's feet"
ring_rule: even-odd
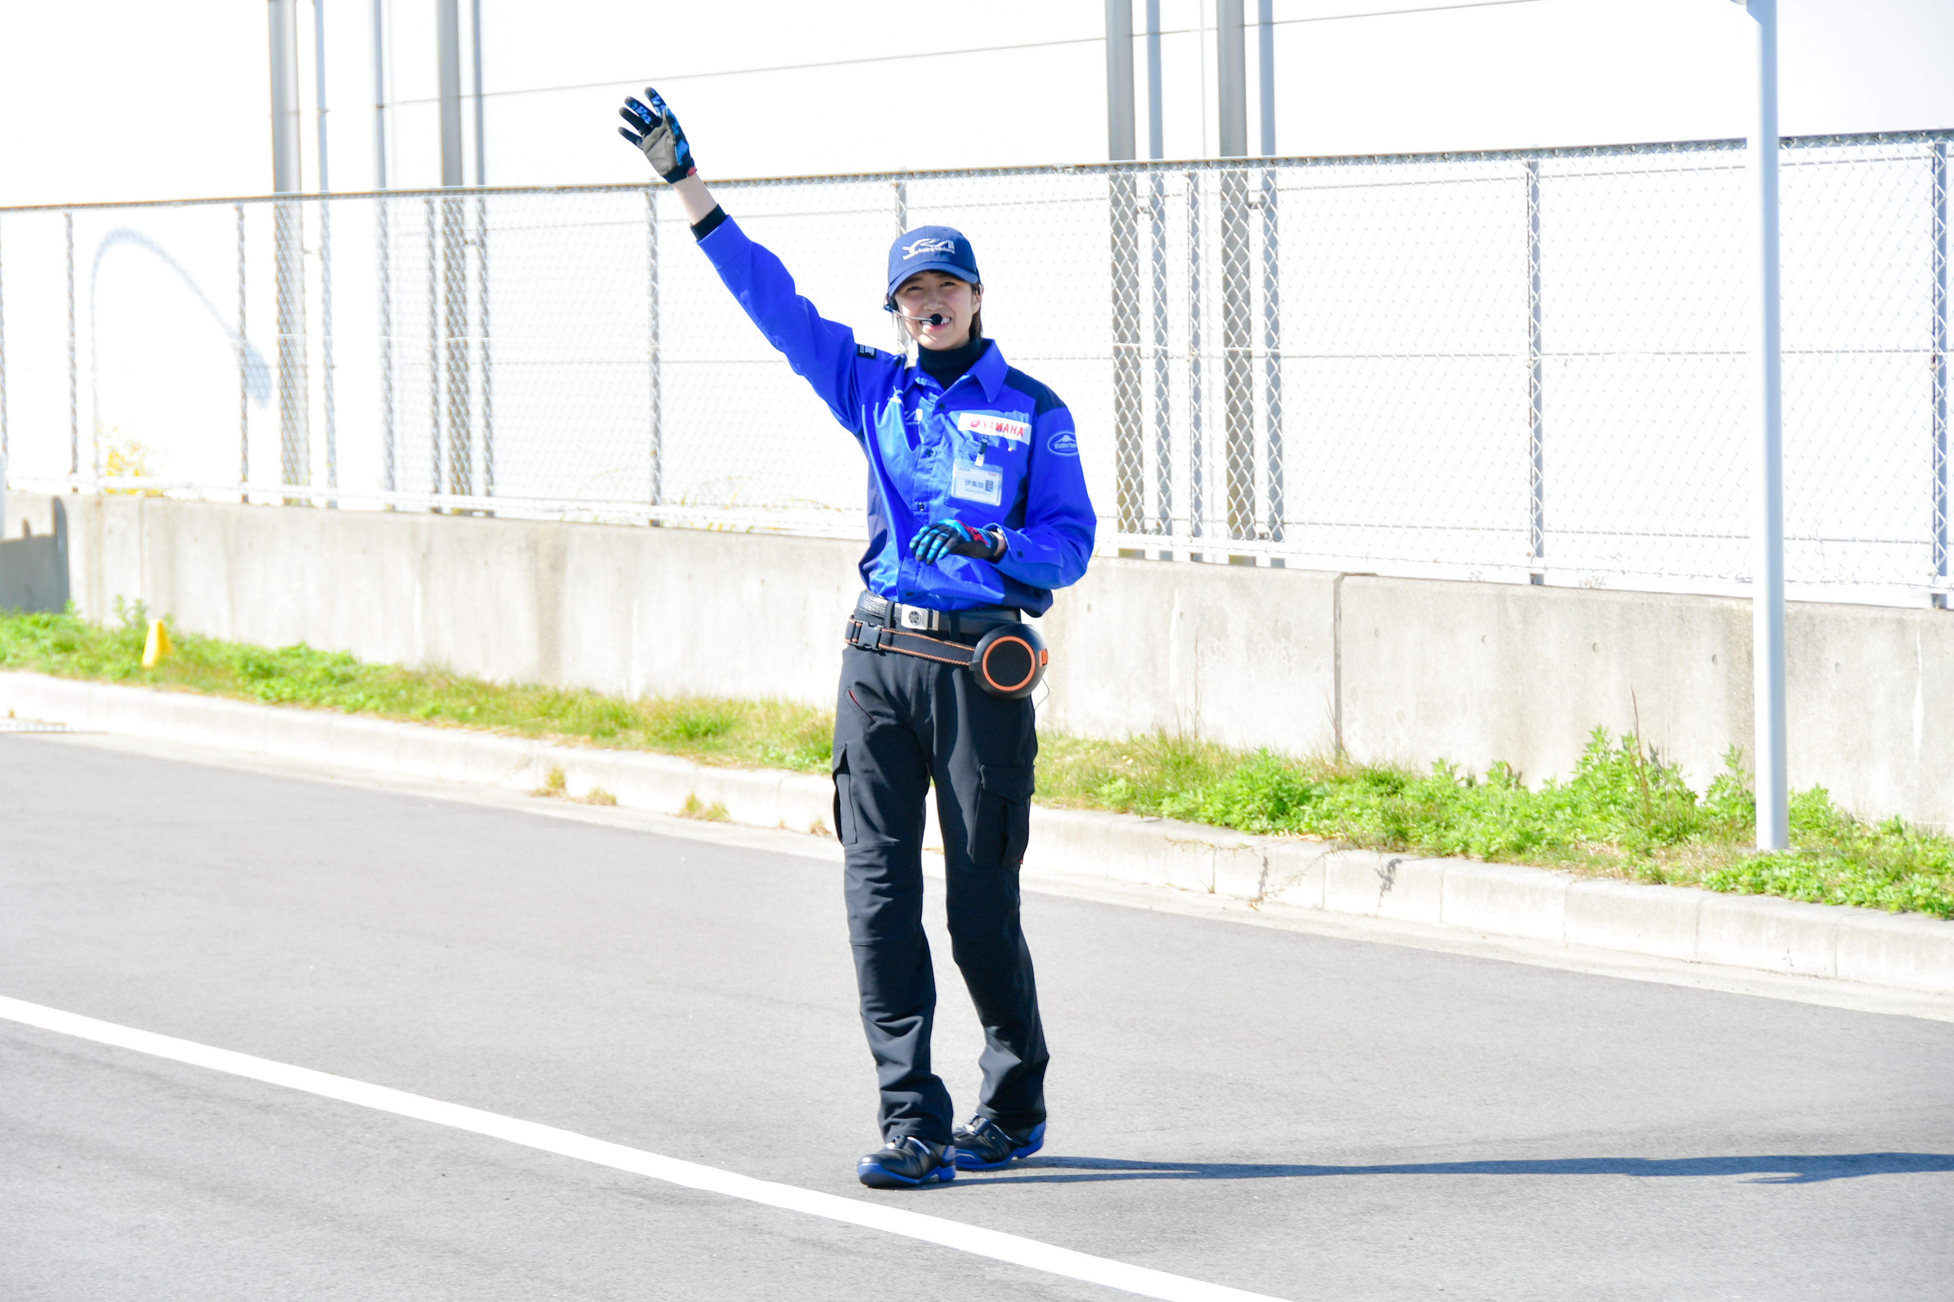
[[[1014,1183],[1092,1179],[1296,1179],[1305,1175],[1757,1175],[1749,1185],[1815,1185],[1860,1175],[1954,1171],[1954,1154],[1804,1154],[1776,1158],[1534,1158],[1512,1161],[1399,1161],[1284,1165],[1260,1161],[1124,1161],[1028,1158],[1000,1175]]]

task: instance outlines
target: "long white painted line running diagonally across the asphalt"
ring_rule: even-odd
[[[850,1226],[881,1230],[883,1234],[901,1234],[911,1240],[938,1243],[940,1247],[952,1247],[975,1257],[991,1257],[993,1261],[1008,1261],[1034,1271],[1063,1275],[1065,1279],[1081,1279],[1088,1284],[1104,1284],[1108,1288],[1135,1292],[1143,1298],[1163,1298],[1165,1302],[1280,1302],[1278,1298],[1270,1298],[1262,1292],[1243,1292],[1241,1288],[1227,1288],[1223,1284],[1206,1284],[1198,1279],[1168,1275],[1167,1271],[1149,1271],[1147,1267],[1110,1261],[1106,1257],[1094,1257],[1090,1253],[1079,1253],[1051,1243],[1040,1243],[1038,1240],[1020,1238],[1016,1234],[965,1226],[956,1220],[944,1220],[942,1216],[905,1212],[895,1206],[860,1202],[832,1193],[815,1193],[813,1189],[797,1189],[793,1185],[752,1179],[750,1175],[737,1175],[733,1171],[721,1171],[696,1161],[660,1158],[658,1154],[647,1154],[641,1148],[625,1148],[623,1144],[592,1140],[590,1136],[574,1134],[573,1130],[559,1130],[555,1126],[541,1126],[533,1120],[483,1113],[481,1109],[461,1107],[459,1103],[442,1103],[440,1099],[428,1099],[403,1089],[389,1089],[387,1085],[369,1085],[344,1076],[330,1076],[328,1072],[313,1072],[311,1068],[295,1068],[283,1062],[272,1062],[270,1058],[238,1054],[229,1048],[211,1048],[209,1044],[197,1044],[193,1040],[178,1040],[176,1037],[156,1035],[154,1031],[119,1027],[111,1021],[96,1021],[94,1017],[82,1017],[80,1013],[63,1013],[61,1009],[25,1003],[21,999],[8,999],[6,996],[0,996],[0,1017],[18,1021],[25,1027],[53,1031],[57,1035],[72,1035],[98,1044],[129,1048],[139,1054],[168,1058],[172,1062],[188,1062],[195,1068],[209,1068],[211,1072],[225,1072],[229,1076],[264,1081],[268,1085],[299,1089],[322,1099],[338,1099],[340,1103],[369,1107],[379,1113],[393,1113],[397,1117],[430,1120],[438,1126],[487,1134],[496,1140],[508,1140],[510,1144],[522,1144],[524,1148],[539,1148],[545,1154],[594,1161],[596,1165],[612,1167],[616,1171],[631,1171],[633,1175],[649,1175],[672,1185],[684,1185],[686,1189],[701,1189],[729,1199],[764,1202],[766,1206],[803,1212],[807,1216],[821,1216],[825,1220],[840,1220]]]

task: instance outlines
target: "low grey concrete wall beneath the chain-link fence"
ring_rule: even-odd
[[[858,591],[860,547],[827,539],[29,494],[8,519],[39,543],[57,504],[90,617],[121,595],[217,636],[627,695],[827,703]],[[1040,716],[1092,736],[1340,736],[1542,779],[1639,718],[1698,787],[1751,744],[1751,613],[1721,597],[1102,556],[1043,627]],[[1954,824],[1954,615],[1794,603],[1788,636],[1792,783]]]

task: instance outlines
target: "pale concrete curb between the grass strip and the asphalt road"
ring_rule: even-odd
[[[563,769],[565,791],[606,791],[660,814],[688,800],[731,822],[827,832],[825,777],[715,769],[670,755],[551,746],[326,711],[0,671],[0,711],[100,732],[162,738],[283,759],[446,783],[535,791]],[[932,845],[940,832],[930,820]],[[1032,808],[1028,873],[1120,882],[1411,921],[1761,972],[1954,994],[1954,923],[1770,896],[1577,878],[1466,859],[1335,849],[1163,818]]]

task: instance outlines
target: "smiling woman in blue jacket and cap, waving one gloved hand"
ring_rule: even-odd
[[[1043,615],[1092,554],[1094,515],[1073,418],[983,338],[969,240],[924,226],[889,248],[883,306],[916,365],[858,344],[725,215],[657,92],[627,98],[623,137],[674,185],[700,250],[787,363],[856,435],[870,465],[870,545],[834,705],[834,832],[862,1025],[881,1085],[883,1148],[864,1185],[987,1171],[1045,1138],[1045,1033],[1018,921],[1018,863],[1038,734],[1028,699],[979,689],[987,631]],[[952,953],[985,1027],[983,1089],[952,1130],[930,1072],[936,984],[922,935],[924,798],[936,783]]]

